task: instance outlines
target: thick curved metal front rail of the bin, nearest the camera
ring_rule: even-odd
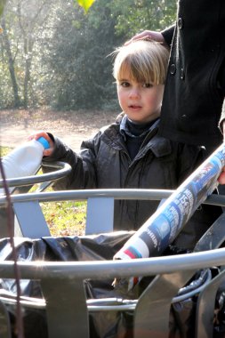
[[[131,261],[92,262],[18,262],[25,279],[86,279],[155,276],[178,270],[198,270],[224,264],[225,248],[194,254],[177,254]],[[14,262],[0,263],[1,278],[14,278]]]

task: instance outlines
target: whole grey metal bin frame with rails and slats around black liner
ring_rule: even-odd
[[[46,181],[52,180],[55,174],[57,176],[57,173],[45,174],[44,180],[46,178]],[[38,176],[25,179],[26,185],[40,180],[42,178]],[[9,183],[11,186],[21,186],[25,181],[19,179],[9,181]],[[86,189],[12,195],[11,200],[12,205],[28,205],[29,203],[39,205],[39,202],[88,200],[90,198],[92,200],[102,200],[102,198],[161,200],[172,193],[173,190],[161,189]],[[0,197],[0,206],[5,205],[5,201],[4,196]],[[211,195],[204,203],[224,206],[225,197]],[[74,338],[75,335],[89,338],[88,313],[103,309],[133,310],[133,338],[157,337],[157,334],[160,337],[167,337],[171,303],[181,287],[197,270],[225,265],[225,249],[216,248],[224,237],[223,224],[224,216],[221,215],[221,219],[213,224],[214,234],[219,229],[219,236],[212,236],[210,241],[209,236],[205,236],[202,245],[198,245],[197,252],[193,254],[160,256],[130,262],[17,262],[17,265],[21,278],[36,279],[41,283],[46,300],[41,306],[46,311],[49,338],[60,338],[62,335],[65,338]],[[215,249],[209,250],[209,248]],[[196,338],[213,337],[212,304],[218,288],[225,281],[224,274],[224,271],[221,271],[217,278],[209,278],[205,286],[198,291]],[[146,292],[135,302],[114,299],[111,302],[101,300],[100,304],[97,300],[86,300],[84,293],[86,278],[130,278],[133,276],[156,276]],[[0,277],[14,278],[14,262],[0,262]],[[210,299],[211,307],[207,305],[208,299]],[[4,295],[0,294],[0,327],[8,328],[8,330],[4,329],[4,332],[0,328],[0,335],[3,338],[10,338],[11,327],[5,302],[7,301]],[[33,306],[38,307],[38,302],[34,302]]]

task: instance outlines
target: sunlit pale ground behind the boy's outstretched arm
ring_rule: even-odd
[[[1,110],[0,145],[14,148],[26,141],[28,135],[44,130],[77,150],[81,141],[112,123],[115,117],[117,112],[109,111]]]

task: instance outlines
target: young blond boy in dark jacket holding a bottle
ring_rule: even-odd
[[[115,123],[83,141],[79,153],[51,133],[30,136],[44,136],[50,142],[44,161],[60,160],[72,167],[54,189],[176,189],[202,159],[200,147],[169,141],[157,133],[169,58],[165,46],[138,40],[118,48],[115,55],[113,75],[123,110]],[[114,229],[139,229],[157,205],[157,201],[116,201]],[[189,221],[176,243],[179,247],[192,248],[219,215],[198,213],[200,221],[197,226]]]

